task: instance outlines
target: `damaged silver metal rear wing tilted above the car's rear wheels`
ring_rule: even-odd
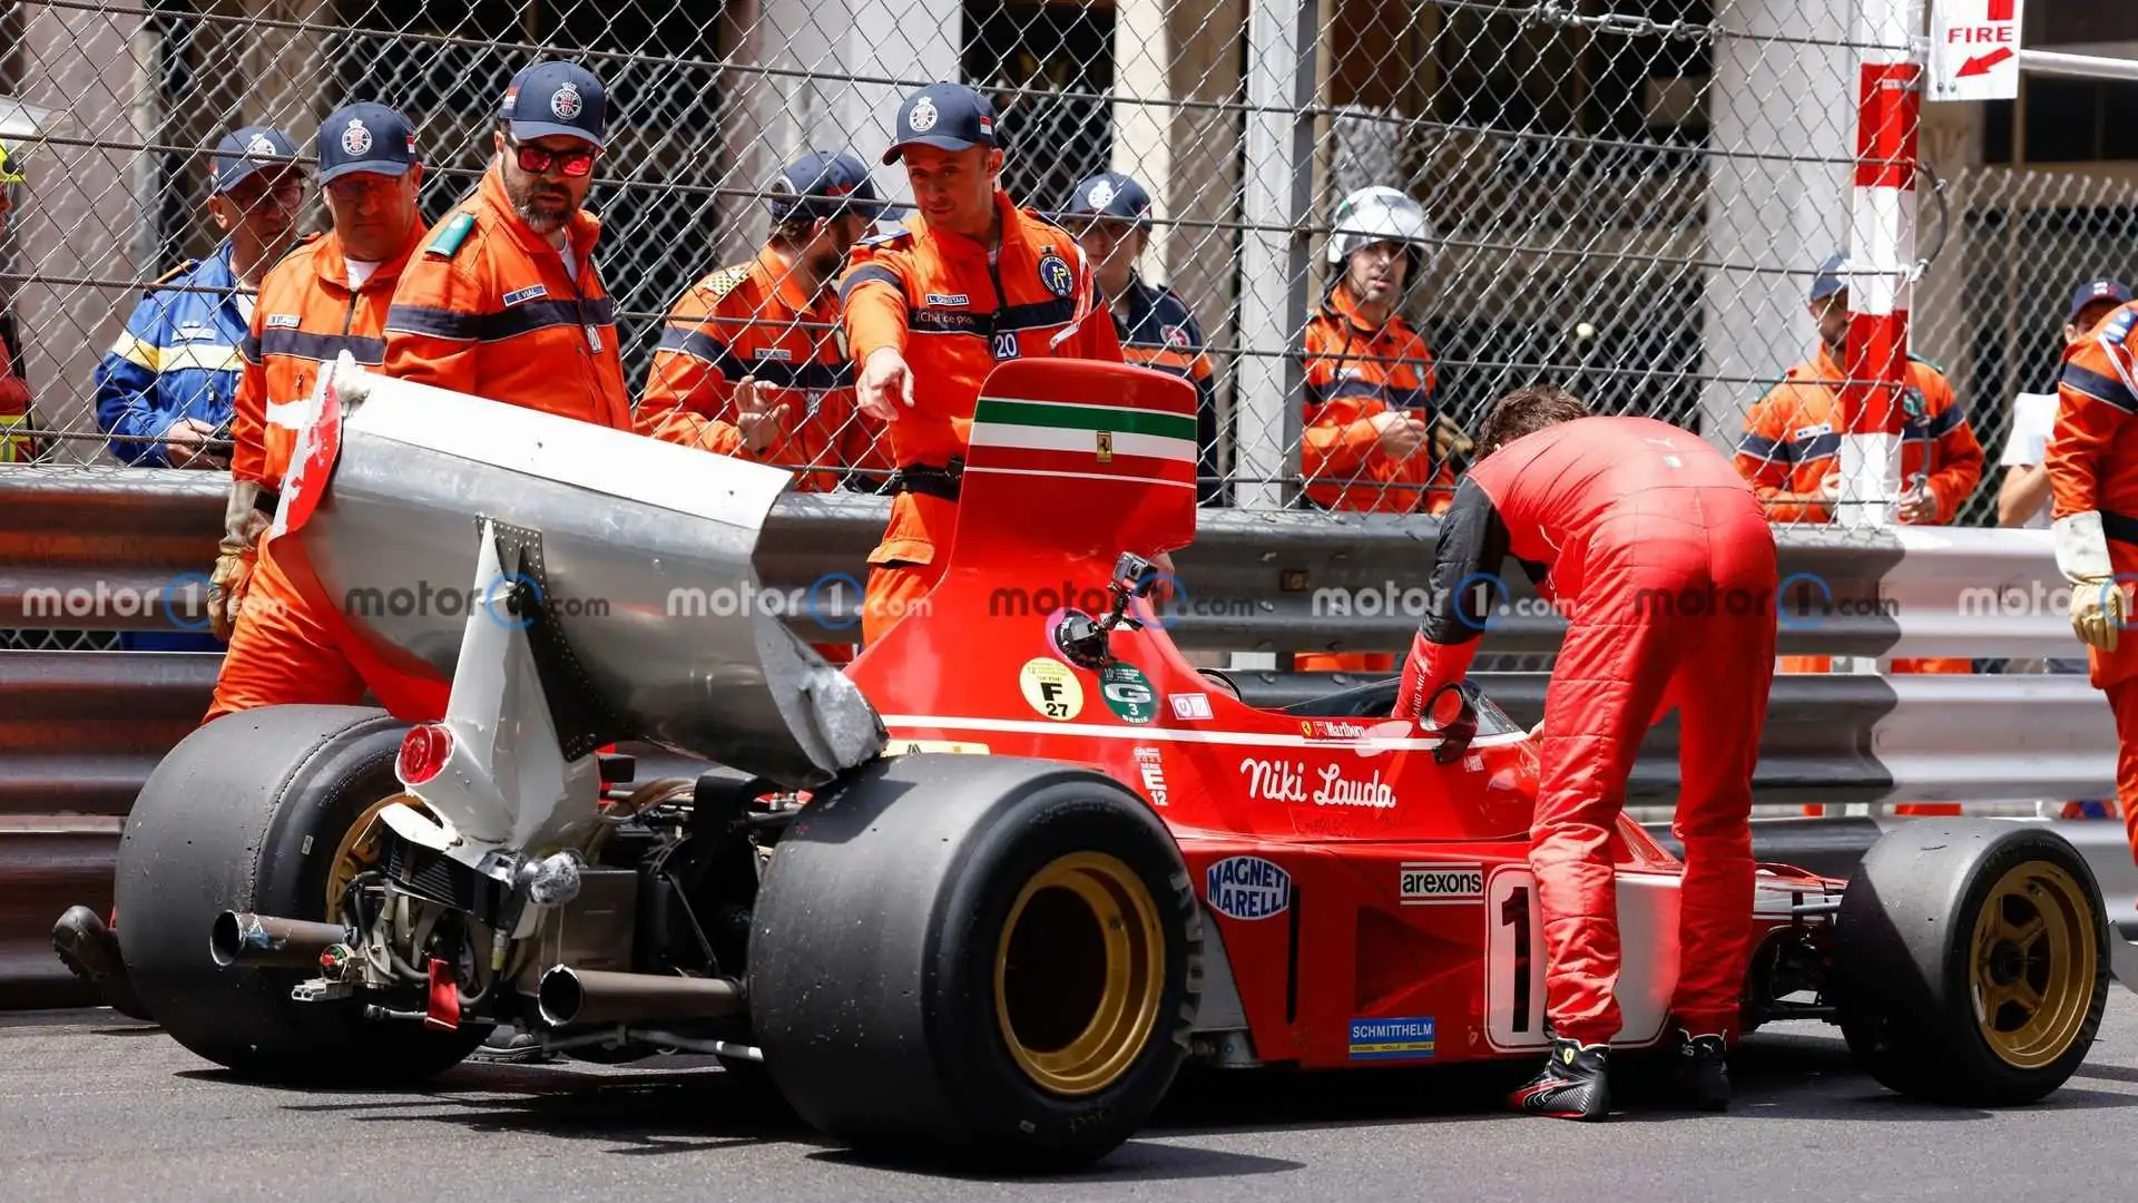
[[[520,574],[577,661],[571,687],[635,728],[629,738],[785,788],[883,749],[862,691],[785,627],[793,599],[757,580],[765,514],[793,473],[348,362],[321,372],[314,407],[331,413],[325,390],[340,402],[331,473],[278,539],[299,544],[359,636],[451,676],[470,608],[524,623],[498,582],[475,580],[487,518],[526,544]],[[308,445],[316,437],[331,435],[312,430]],[[284,492],[319,488],[301,471]]]

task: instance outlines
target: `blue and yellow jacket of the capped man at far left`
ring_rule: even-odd
[[[162,435],[182,417],[229,426],[250,328],[235,285],[224,242],[214,257],[156,280],[96,364],[96,424],[115,435],[120,462],[169,467]]]

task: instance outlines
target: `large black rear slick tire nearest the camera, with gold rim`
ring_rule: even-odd
[[[885,758],[772,852],[750,1023],[789,1107],[859,1152],[1067,1171],[1172,1087],[1202,940],[1180,848],[1114,779]]]

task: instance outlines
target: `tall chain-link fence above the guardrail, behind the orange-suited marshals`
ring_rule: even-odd
[[[678,293],[763,242],[780,163],[853,150],[907,199],[902,169],[877,167],[896,103],[962,79],[1001,113],[1016,201],[1054,212],[1103,169],[1152,195],[1137,268],[1208,340],[1221,501],[1432,509],[1462,467],[1450,428],[1475,435],[1512,387],[1563,383],[1734,447],[1785,372],[1819,370],[1807,289],[1849,246],[1860,17],[1849,0],[34,0],[0,17],[19,101],[0,137],[26,173],[0,334],[36,458],[111,465],[154,439],[111,432],[124,398],[100,396],[98,362],[145,289],[218,250],[222,133],[272,124],[310,154],[329,109],[389,103],[419,131],[436,220],[485,167],[507,79],[562,56],[611,96],[590,203],[637,392]],[[1924,105],[1911,349],[1984,450],[1958,520],[1995,522],[2014,396],[2052,387],[2072,289],[2138,270],[2138,184],[1982,167],[1976,109]],[[1368,257],[1328,255],[1332,214],[1368,186],[1424,218],[1396,298]],[[323,225],[314,201],[304,227]],[[1388,334],[1383,300],[1415,338]],[[190,405],[227,428],[227,392]]]

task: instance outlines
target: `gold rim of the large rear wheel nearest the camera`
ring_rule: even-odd
[[[1159,908],[1125,863],[1071,852],[1018,893],[994,950],[994,1019],[1041,1090],[1084,1096],[1120,1081],[1163,991]]]

